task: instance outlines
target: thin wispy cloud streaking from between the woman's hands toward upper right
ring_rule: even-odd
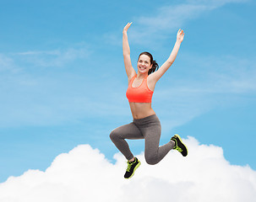
[[[145,45],[145,41],[155,41],[166,38],[177,29],[182,28],[188,20],[196,19],[206,12],[220,8],[227,3],[245,3],[248,0],[188,0],[180,4],[170,4],[155,8],[149,16],[138,16],[129,30],[129,39],[133,43]],[[185,31],[186,32],[186,31]],[[152,45],[152,44],[151,44]]]

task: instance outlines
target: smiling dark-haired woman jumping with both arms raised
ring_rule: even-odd
[[[135,72],[130,58],[130,48],[128,45],[128,29],[132,23],[128,23],[123,29],[123,60],[125,70],[128,76],[128,89],[126,96],[133,114],[133,122],[128,125],[122,125],[112,130],[110,138],[128,160],[128,167],[124,178],[132,178],[140,162],[137,157],[133,157],[127,141],[144,139],[145,161],[150,165],[160,162],[166,154],[175,149],[181,152],[183,157],[188,155],[187,146],[182,143],[180,136],[172,136],[166,145],[159,146],[161,136],[161,123],[157,118],[155,111],[151,108],[151,99],[154,93],[155,84],[172,66],[177,56],[182,40],[184,38],[183,30],[177,32],[177,40],[172,53],[167,61],[158,69],[158,65],[153,61],[149,52],[143,52],[139,55],[137,62],[138,73]],[[157,70],[158,69],[158,70]],[[157,71],[156,71],[157,70]]]

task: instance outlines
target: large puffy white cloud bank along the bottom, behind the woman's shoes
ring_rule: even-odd
[[[75,147],[56,157],[45,172],[29,170],[0,184],[3,202],[30,201],[219,201],[253,202],[256,171],[231,165],[218,146],[185,140],[188,157],[171,151],[157,165],[142,162],[133,178],[123,178],[124,157],[114,164],[89,145]],[[113,146],[113,145],[112,145]]]

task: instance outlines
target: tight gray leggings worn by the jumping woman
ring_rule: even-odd
[[[169,141],[166,145],[159,146],[160,136],[161,123],[155,114],[143,119],[133,119],[132,123],[122,125],[112,130],[110,134],[112,142],[128,160],[133,158],[133,153],[130,151],[127,141],[124,139],[144,139],[144,157],[146,162],[150,165],[155,165],[160,162],[174,146],[173,141]]]

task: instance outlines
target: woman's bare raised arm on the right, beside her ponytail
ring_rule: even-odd
[[[169,58],[166,60],[166,62],[157,70],[156,72],[152,73],[150,76],[153,77],[155,82],[157,82],[164,73],[169,69],[170,66],[172,66],[172,63],[175,61],[175,58],[177,56],[177,52],[180,48],[180,45],[182,44],[182,40],[184,38],[184,32],[182,29],[178,29],[177,31],[177,40],[176,43],[172,49],[172,53],[169,56]]]

